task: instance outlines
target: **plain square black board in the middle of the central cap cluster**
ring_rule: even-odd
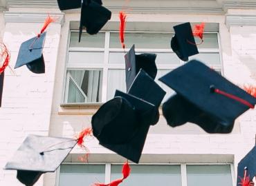
[[[152,79],[151,76],[149,76],[149,74],[140,69],[128,90],[128,94],[152,103],[158,109],[166,92],[154,81],[154,79]]]

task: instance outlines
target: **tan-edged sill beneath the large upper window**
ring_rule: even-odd
[[[58,114],[60,115],[93,115],[104,103],[63,103],[60,104]],[[163,115],[162,105],[159,113]]]

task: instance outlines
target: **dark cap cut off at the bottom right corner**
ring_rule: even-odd
[[[256,146],[238,163],[237,186],[241,186],[245,176],[249,178],[248,181],[252,181],[256,176]]]

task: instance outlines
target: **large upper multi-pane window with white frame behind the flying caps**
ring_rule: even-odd
[[[125,52],[135,44],[136,53],[157,54],[156,82],[167,92],[165,101],[173,91],[157,79],[179,67],[181,61],[170,48],[174,32],[126,32],[126,50],[120,48],[119,33],[106,31],[96,35],[71,31],[66,65],[64,103],[104,103],[113,98],[116,89],[126,92]],[[200,43],[200,41],[196,41]],[[221,72],[221,57],[217,32],[206,32],[204,42],[198,45],[200,54],[190,57],[205,62]]]

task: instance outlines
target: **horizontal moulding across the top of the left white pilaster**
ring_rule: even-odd
[[[48,13],[4,12],[6,23],[44,23]],[[63,25],[64,13],[55,13],[51,16],[56,18],[54,23]]]

